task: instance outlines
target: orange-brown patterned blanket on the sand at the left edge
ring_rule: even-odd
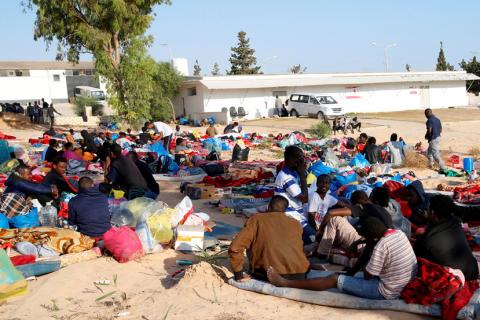
[[[27,241],[47,245],[60,254],[77,253],[93,248],[95,240],[71,229],[35,227],[28,229],[0,229],[0,244],[15,245]]]

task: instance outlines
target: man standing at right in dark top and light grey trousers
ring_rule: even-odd
[[[430,168],[433,169],[435,162],[438,163],[440,171],[446,169],[445,163],[440,155],[440,136],[442,134],[442,122],[432,112],[432,109],[425,110],[425,117],[427,118],[427,132],[425,139],[428,141],[427,157],[430,163]]]

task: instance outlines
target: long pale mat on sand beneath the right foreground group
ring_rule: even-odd
[[[370,300],[358,298],[348,294],[340,293],[338,290],[331,291],[310,291],[293,288],[278,288],[269,283],[250,280],[248,282],[236,282],[230,279],[229,283],[241,290],[253,291],[272,295],[275,297],[286,298],[290,300],[317,304],[328,307],[361,309],[361,310],[391,310],[409,312],[434,317],[441,316],[441,308],[435,304],[433,306],[422,306],[418,304],[407,304],[403,300]],[[480,290],[477,290],[474,296],[457,315],[457,319],[476,319],[476,313],[480,305]]]

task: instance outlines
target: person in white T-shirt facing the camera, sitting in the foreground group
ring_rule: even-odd
[[[344,202],[338,201],[332,196],[330,184],[331,178],[329,175],[319,175],[316,182],[317,190],[308,195],[308,222],[315,229],[320,227],[323,217],[325,217],[330,208],[347,206]]]

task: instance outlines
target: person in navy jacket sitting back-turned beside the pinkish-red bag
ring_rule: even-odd
[[[108,197],[88,177],[80,178],[78,186],[78,195],[68,203],[68,223],[84,235],[99,238],[112,227]]]

